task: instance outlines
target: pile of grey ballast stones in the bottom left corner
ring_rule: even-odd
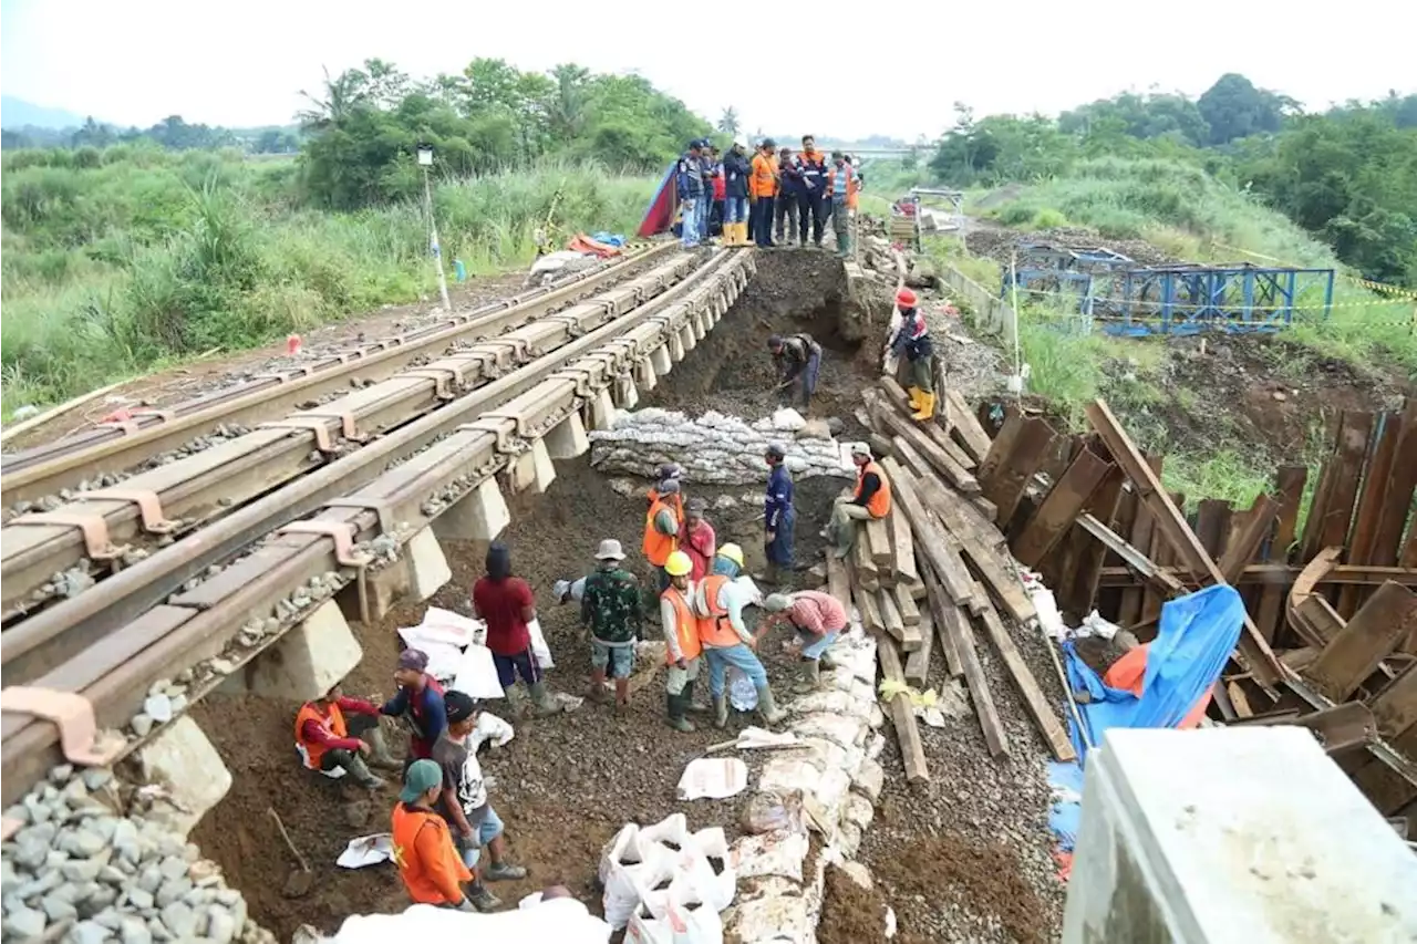
[[[273,943],[162,812],[160,790],[108,770],[50,771],[4,812],[24,825],[0,845],[0,940]]]

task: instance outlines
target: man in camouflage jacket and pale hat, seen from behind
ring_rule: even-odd
[[[591,700],[605,702],[605,675],[615,680],[615,710],[629,704],[635,639],[643,634],[639,581],[622,566],[621,543],[605,539],[595,550],[595,570],[581,590],[581,625],[591,631]]]

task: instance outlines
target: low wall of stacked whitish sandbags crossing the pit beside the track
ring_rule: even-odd
[[[608,473],[653,478],[660,465],[677,462],[690,482],[767,482],[762,454],[777,442],[799,479],[852,475],[826,425],[809,422],[795,410],[752,422],[713,410],[697,420],[659,408],[622,411],[609,429],[592,431],[589,438],[591,465]]]

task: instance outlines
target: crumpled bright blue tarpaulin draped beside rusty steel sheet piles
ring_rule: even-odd
[[[1068,685],[1085,690],[1091,703],[1078,704],[1087,740],[1100,744],[1110,727],[1176,727],[1200,697],[1214,687],[1234,652],[1244,626],[1244,602],[1234,587],[1216,584],[1161,608],[1161,626],[1146,652],[1141,697],[1102,685],[1078,658],[1073,642],[1063,644]],[[1073,746],[1085,761],[1077,723],[1070,724]]]

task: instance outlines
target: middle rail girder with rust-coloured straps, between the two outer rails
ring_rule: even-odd
[[[245,435],[140,472],[119,488],[85,492],[52,510],[11,519],[0,526],[0,632],[4,624],[14,624],[51,601],[92,592],[88,588],[75,595],[68,591],[69,581],[82,585],[95,577],[106,580],[247,502],[366,449],[360,444],[458,403],[465,391],[483,387],[632,310],[682,279],[696,264],[697,257],[676,252],[667,262],[588,300],[520,327],[507,325],[513,318],[524,320],[524,309],[470,320],[442,332],[439,343],[446,346],[448,356],[422,367],[261,424]],[[469,344],[469,332],[490,336]],[[188,578],[196,573],[190,571]],[[176,587],[167,588],[171,590]],[[26,652],[24,642],[6,635],[0,673]]]

